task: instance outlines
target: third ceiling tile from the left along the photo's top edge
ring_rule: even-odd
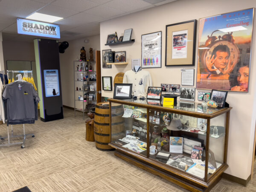
[[[111,2],[105,3],[104,6],[130,12],[136,9],[152,6],[152,4],[143,0],[113,0]]]

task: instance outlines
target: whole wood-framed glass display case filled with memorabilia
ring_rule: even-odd
[[[200,103],[108,99],[111,145],[116,156],[185,189],[208,191],[227,169],[232,108],[202,108]],[[117,120],[122,121],[118,124]]]

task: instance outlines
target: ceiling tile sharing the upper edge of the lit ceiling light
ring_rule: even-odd
[[[71,15],[75,15],[79,12],[71,10],[71,9],[64,9],[64,8],[58,7],[58,6],[48,5],[48,6],[45,6],[43,9],[40,9],[38,11],[38,13],[43,13],[43,14],[47,14],[47,15],[53,15],[53,16],[65,18],[65,17],[69,17]]]

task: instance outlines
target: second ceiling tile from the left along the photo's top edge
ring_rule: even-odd
[[[56,0],[52,5],[82,12],[99,4],[87,0]]]

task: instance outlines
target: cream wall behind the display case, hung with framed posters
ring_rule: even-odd
[[[214,3],[209,0],[178,0],[163,6],[102,22],[100,25],[101,50],[112,49],[113,51],[126,51],[127,61],[129,62],[129,64],[125,66],[112,65],[112,69],[102,69],[102,76],[112,76],[112,78],[114,78],[116,73],[125,73],[125,71],[131,70],[131,59],[141,58],[141,35],[162,31],[162,68],[143,70],[148,70],[150,72],[154,86],[160,86],[161,83],[180,84],[181,67],[164,66],[166,25],[192,19],[198,20],[203,17],[252,7],[256,7],[255,0],[243,0],[242,3],[241,0],[215,0]],[[227,96],[227,102],[233,109],[230,114],[230,132],[228,140],[227,164],[229,165],[229,168],[226,170],[226,173],[242,179],[247,179],[250,175],[255,131],[256,111],[254,108],[256,103],[253,102],[256,98],[255,26],[256,22],[254,20],[249,93],[229,92]],[[130,28],[133,29],[131,38],[135,39],[134,43],[105,46],[108,34],[112,34],[116,31],[119,37],[123,35],[125,29]],[[196,46],[197,44],[198,35]],[[195,55],[197,55],[197,49]],[[197,58],[195,60],[195,67],[186,68],[195,68],[196,71]],[[102,91],[102,96],[113,97],[113,92]]]

